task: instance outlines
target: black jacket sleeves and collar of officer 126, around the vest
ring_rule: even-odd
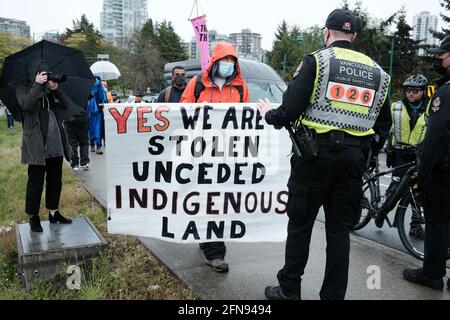
[[[332,46],[351,49],[352,43],[348,41],[336,41]],[[288,89],[283,95],[283,103],[281,106],[267,113],[267,123],[276,127],[283,127],[298,120],[310,105],[309,100],[314,90],[315,79],[316,59],[312,55],[309,55],[303,60],[301,67],[289,83]],[[377,149],[381,149],[386,141],[391,124],[390,102],[389,99],[386,99],[374,126],[375,132],[381,138]]]

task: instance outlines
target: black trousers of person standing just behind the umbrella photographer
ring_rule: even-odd
[[[70,165],[73,167],[89,163],[89,136],[88,121],[79,119],[66,124],[67,136],[72,149]],[[78,153],[78,148],[80,152]]]

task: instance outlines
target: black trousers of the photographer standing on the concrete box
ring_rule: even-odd
[[[30,216],[39,214],[42,192],[45,188],[45,206],[48,210],[59,209],[62,190],[63,157],[45,160],[45,166],[28,166],[28,183],[25,212]]]

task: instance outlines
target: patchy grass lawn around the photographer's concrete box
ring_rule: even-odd
[[[25,292],[17,274],[14,225],[28,222],[24,212],[27,166],[20,164],[22,129],[9,130],[0,117],[0,301],[21,299],[149,299],[193,300],[198,297],[174,277],[133,237],[110,236],[103,208],[84,190],[69,166],[64,166],[61,211],[68,217],[91,219],[108,247],[83,270],[80,290],[68,290],[62,272],[51,281],[36,283]],[[44,198],[43,198],[44,199]],[[44,201],[42,201],[43,203]],[[47,212],[41,206],[41,215]]]

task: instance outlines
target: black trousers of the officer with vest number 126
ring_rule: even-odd
[[[278,281],[287,294],[300,294],[313,226],[323,206],[326,268],[323,300],[344,299],[347,291],[350,230],[360,217],[364,155],[361,147],[321,145],[315,160],[291,159],[288,238],[285,265]]]

